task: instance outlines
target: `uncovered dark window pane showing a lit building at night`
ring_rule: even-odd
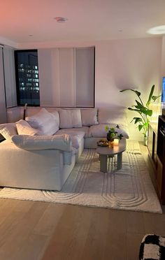
[[[38,52],[37,50],[15,51],[17,104],[40,105]]]

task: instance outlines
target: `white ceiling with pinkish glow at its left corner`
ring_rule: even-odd
[[[165,24],[165,0],[1,0],[0,17],[1,41],[15,44],[146,38]]]

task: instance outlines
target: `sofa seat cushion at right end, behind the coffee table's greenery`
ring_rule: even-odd
[[[106,137],[107,132],[105,127],[116,127],[116,124],[98,124],[96,126],[89,127],[89,137]],[[124,138],[129,138],[129,130],[127,127],[119,124],[119,129],[116,129],[117,134],[123,134]]]

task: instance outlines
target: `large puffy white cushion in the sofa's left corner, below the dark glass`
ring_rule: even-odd
[[[38,113],[30,117],[26,117],[26,121],[31,127],[38,130],[38,135],[51,136],[59,130],[59,113],[53,111],[48,112],[42,108]]]

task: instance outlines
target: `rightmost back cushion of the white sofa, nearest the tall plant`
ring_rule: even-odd
[[[125,108],[99,108],[99,124],[120,124],[127,125],[127,115]]]

